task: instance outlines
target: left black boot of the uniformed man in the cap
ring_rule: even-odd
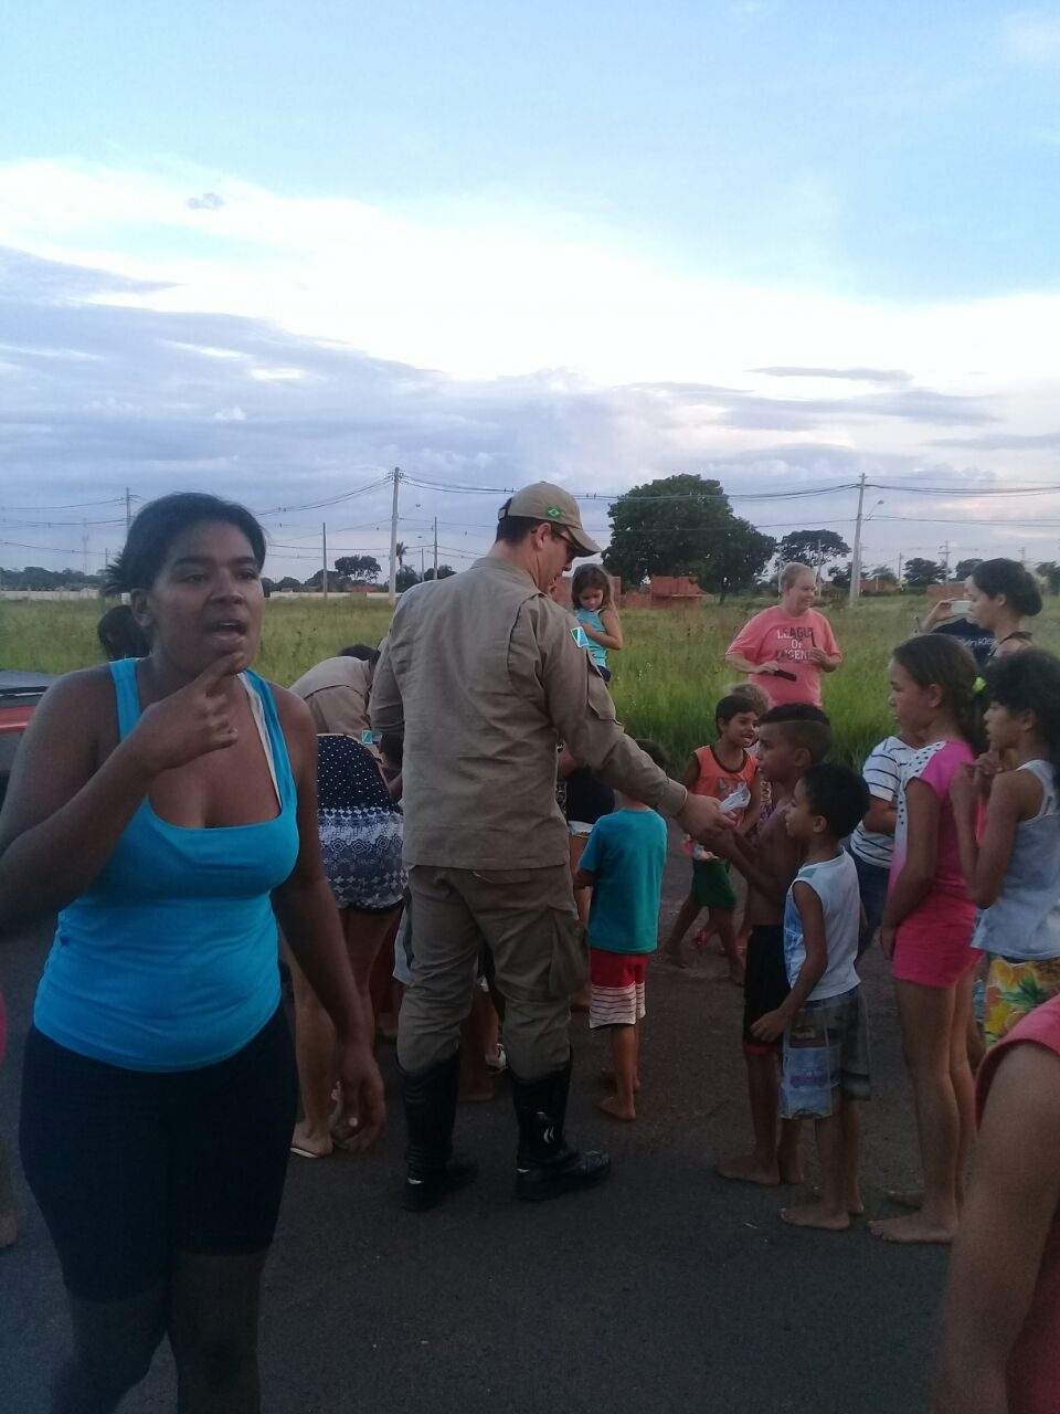
[[[401,1099],[408,1124],[401,1208],[411,1213],[425,1213],[437,1208],[447,1193],[464,1188],[478,1175],[473,1159],[452,1152],[459,1051],[448,1060],[438,1060],[424,1070],[403,1070],[399,1065],[397,1073],[401,1077]]]

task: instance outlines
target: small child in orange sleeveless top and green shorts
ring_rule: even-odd
[[[693,795],[712,796],[729,802],[726,809],[741,834],[755,829],[762,806],[762,783],[758,761],[750,754],[755,745],[758,713],[743,696],[722,697],[714,710],[718,740],[712,747],[700,747],[688,758],[681,785]],[[738,802],[746,802],[739,805]],[[722,805],[725,809],[725,805]],[[736,895],[729,882],[729,865],[701,846],[691,846],[693,887],[674,919],[664,954],[677,967],[684,967],[681,940],[698,918],[709,909],[708,928],[718,935],[729,962],[729,980],[742,986],[743,959],[736,942]]]

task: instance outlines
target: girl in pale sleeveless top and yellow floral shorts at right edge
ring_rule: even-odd
[[[991,754],[950,786],[961,867],[989,956],[987,1045],[1060,993],[1060,662],[1026,649],[987,669]],[[1012,768],[995,773],[995,762]],[[982,839],[975,823],[987,802]]]

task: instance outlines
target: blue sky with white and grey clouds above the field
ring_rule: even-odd
[[[1060,559],[1057,4],[8,0],[0,93],[3,566],[126,488],[386,561],[393,467],[413,564],[676,472]]]

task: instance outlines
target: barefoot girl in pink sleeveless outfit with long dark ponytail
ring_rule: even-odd
[[[961,643],[931,633],[900,643],[889,666],[899,730],[920,734],[929,745],[905,769],[882,922],[913,1082],[924,1189],[889,1195],[917,1210],[871,1225],[888,1241],[953,1240],[974,1128],[967,1034],[975,904],[961,874],[950,785],[975,761],[979,745],[975,672]]]

